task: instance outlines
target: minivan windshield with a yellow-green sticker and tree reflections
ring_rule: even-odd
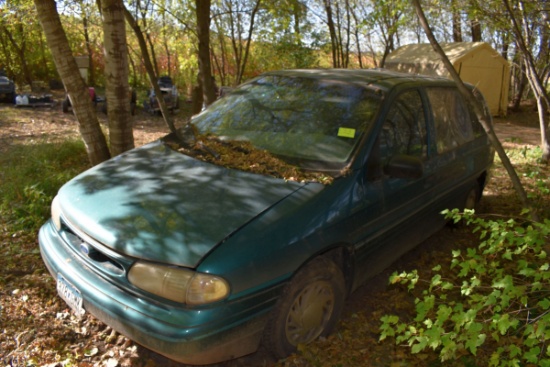
[[[335,79],[264,75],[192,120],[199,133],[250,142],[306,170],[351,159],[380,104],[372,90]]]

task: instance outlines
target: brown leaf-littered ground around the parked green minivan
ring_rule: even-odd
[[[0,107],[0,162],[10,149],[48,144],[77,137],[74,117],[54,109]],[[496,122],[505,146],[514,152],[512,161],[530,193],[550,187],[548,166],[529,155],[539,144],[536,114],[528,111]],[[135,117],[137,145],[163,136],[168,129],[160,117],[138,113]],[[25,157],[22,157],[25,159]],[[76,157],[75,159],[86,159]],[[38,162],[40,164],[40,162]],[[0,190],[4,176],[0,173]],[[546,180],[546,181],[545,181]],[[32,190],[31,190],[32,191]],[[0,194],[3,194],[0,191]],[[26,193],[28,194],[28,193]],[[32,192],[31,192],[32,194]],[[550,207],[550,198],[537,195],[535,205]],[[39,195],[37,199],[40,200]],[[497,162],[480,203],[485,216],[519,216],[521,204],[506,172]],[[47,215],[47,213],[46,213]],[[14,229],[17,228],[17,229]],[[0,217],[0,364],[2,366],[180,366],[114,332],[90,315],[75,318],[57,296],[55,280],[45,269],[37,245],[36,229],[25,223],[14,226]],[[456,248],[476,246],[478,234],[468,227],[446,227],[403,256],[382,274],[351,295],[337,331],[283,361],[273,361],[263,351],[220,366],[438,366],[435,353],[411,354],[391,340],[379,342],[380,318],[385,314],[409,315],[414,297],[405,287],[390,286],[395,271],[421,269],[430,277],[436,264],[451,261]],[[485,366],[489,356],[460,356],[445,366]]]

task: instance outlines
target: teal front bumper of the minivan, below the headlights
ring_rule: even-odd
[[[277,290],[202,308],[175,307],[139,295],[96,274],[58,236],[51,222],[39,232],[49,272],[78,288],[82,306],[138,344],[187,364],[211,364],[257,350]]]

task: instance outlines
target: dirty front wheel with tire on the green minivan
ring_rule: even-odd
[[[305,265],[285,287],[264,332],[264,345],[277,358],[330,334],[338,322],[346,286],[342,271],[328,258]]]

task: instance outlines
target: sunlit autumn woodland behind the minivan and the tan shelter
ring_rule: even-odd
[[[204,2],[204,1],[203,1]],[[196,1],[127,1],[145,37],[156,75],[169,75],[183,95],[197,84]],[[200,3],[198,1],[197,3]],[[524,57],[506,1],[423,1],[439,42],[484,41],[512,66],[513,107],[528,88]],[[524,30],[539,75],[548,83],[548,1],[508,3]],[[105,86],[102,19],[96,1],[57,1],[74,56],[89,59],[88,84]],[[210,58],[218,86],[288,68],[383,67],[401,45],[427,42],[407,0],[214,0],[209,9]],[[130,85],[150,88],[135,34],[127,31]],[[32,0],[0,2],[0,69],[18,87],[59,81]]]

